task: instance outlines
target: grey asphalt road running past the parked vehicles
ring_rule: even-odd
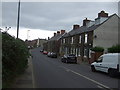
[[[33,49],[33,84],[35,88],[118,88],[118,78],[92,72],[87,64],[66,64]],[[114,89],[112,89],[114,90]]]

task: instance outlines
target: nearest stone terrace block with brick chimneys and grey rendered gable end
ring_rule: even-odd
[[[101,11],[98,17],[92,21],[87,18],[83,20],[83,25],[73,25],[73,29],[61,39],[60,53],[76,54],[80,60],[91,58],[90,48],[101,46],[107,49],[118,44],[118,23],[120,18],[113,14]]]

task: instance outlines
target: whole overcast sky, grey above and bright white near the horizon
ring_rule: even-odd
[[[0,19],[2,18],[1,28],[11,27],[8,33],[16,37],[18,2],[13,1],[2,1]],[[118,14],[117,0],[112,0],[112,2],[110,0],[104,0],[104,2],[21,1],[19,38],[22,40],[47,39],[60,30],[69,32],[74,24],[82,26],[83,19],[87,17],[94,20],[102,10],[109,16]]]

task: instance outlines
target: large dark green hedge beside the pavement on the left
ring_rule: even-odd
[[[2,33],[2,87],[8,88],[12,81],[27,68],[29,51],[25,42]]]

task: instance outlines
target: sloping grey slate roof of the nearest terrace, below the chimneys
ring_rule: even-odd
[[[105,23],[106,21],[108,21],[111,17],[115,16],[116,14],[113,14],[111,16],[108,17],[107,20],[105,20],[103,23]],[[118,15],[116,15],[118,16]],[[118,16],[119,17],[119,16]],[[120,18],[119,18],[120,19]],[[77,35],[77,34],[81,34],[81,33],[85,33],[85,32],[90,32],[95,30],[96,28],[98,28],[99,26],[101,26],[103,23],[99,24],[99,25],[92,25],[91,27],[86,27],[86,26],[81,26],[78,29],[75,30],[71,30],[70,32],[68,32],[66,35],[64,35],[63,37],[68,37],[68,36],[73,36],[73,35]]]

